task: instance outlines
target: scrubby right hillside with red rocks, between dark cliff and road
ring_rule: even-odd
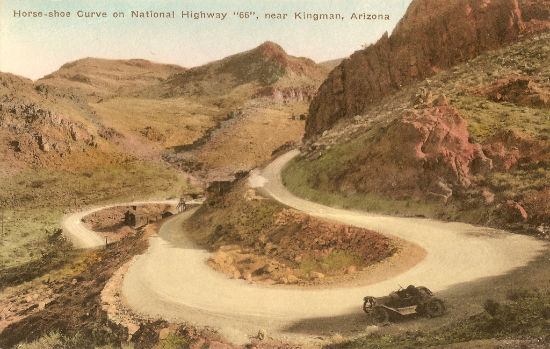
[[[550,34],[372,103],[285,172],[325,203],[550,231]]]

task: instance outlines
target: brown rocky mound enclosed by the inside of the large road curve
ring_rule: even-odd
[[[210,195],[184,228],[217,251],[210,260],[215,269],[266,283],[353,278],[362,267],[396,251],[394,242],[378,233],[305,215],[259,196],[242,181]]]

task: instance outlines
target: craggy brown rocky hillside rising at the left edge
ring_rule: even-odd
[[[2,172],[19,165],[56,167],[75,161],[74,155],[91,161],[100,138],[111,136],[88,120],[92,114],[85,97],[74,91],[0,73]]]

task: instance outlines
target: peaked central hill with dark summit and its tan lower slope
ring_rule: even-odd
[[[203,105],[230,108],[204,137],[164,153],[185,171],[227,179],[300,140],[307,107],[327,72],[310,59],[290,56],[279,45],[265,42],[176,74],[143,95],[200,99]]]

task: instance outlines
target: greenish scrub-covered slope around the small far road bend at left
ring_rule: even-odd
[[[51,239],[67,210],[175,197],[186,185],[175,171],[140,161],[75,172],[27,169],[1,176],[4,235],[0,237],[0,287],[28,280],[72,255],[62,239]]]

